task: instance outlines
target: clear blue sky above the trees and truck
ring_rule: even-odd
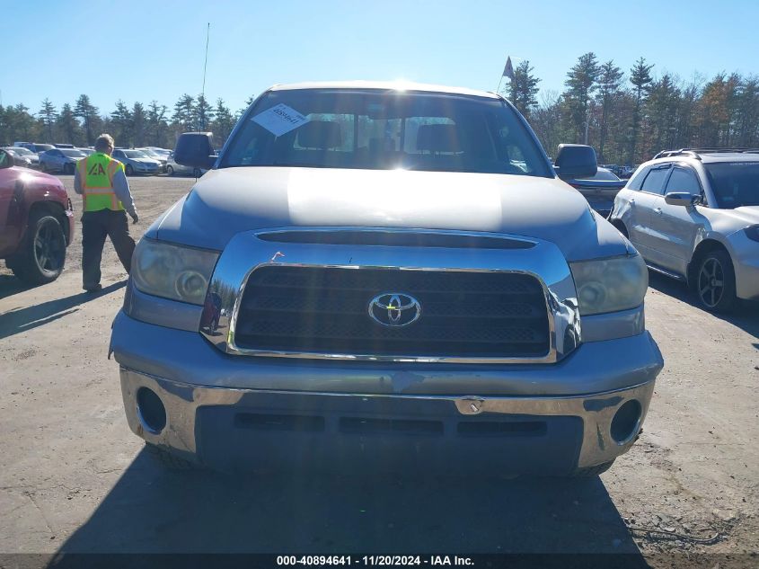
[[[569,6],[575,6],[574,8]],[[507,55],[560,91],[594,51],[628,70],[759,74],[759,2],[0,0],[4,105],[60,107],[80,93],[102,113],[122,99],[171,109],[202,87],[233,110],[271,84],[395,79],[495,90]]]

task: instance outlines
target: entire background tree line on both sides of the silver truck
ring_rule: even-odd
[[[569,69],[561,93],[541,91],[540,83],[525,60],[503,94],[529,120],[549,155],[562,142],[595,147],[601,164],[640,164],[670,148],[759,147],[757,76],[722,72],[684,80],[668,72],[658,75],[644,58],[624,71],[588,52]],[[220,145],[243,111],[230,110],[220,98],[212,104],[202,94],[185,93],[171,112],[156,101],[128,106],[119,100],[110,114],[102,114],[82,94],[60,109],[49,99],[36,112],[22,103],[0,105],[0,143],[84,147],[110,132],[119,146],[171,148],[181,132],[211,130]]]

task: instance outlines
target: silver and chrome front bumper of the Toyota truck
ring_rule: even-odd
[[[221,469],[569,474],[630,449],[663,366],[649,333],[534,366],[249,358],[123,313],[111,349],[132,431]],[[141,388],[163,404],[160,430],[138,409]],[[631,401],[637,412],[613,436]]]

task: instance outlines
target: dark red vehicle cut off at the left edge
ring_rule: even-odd
[[[13,165],[0,150],[0,259],[19,279],[56,280],[74,232],[66,188],[55,176]]]

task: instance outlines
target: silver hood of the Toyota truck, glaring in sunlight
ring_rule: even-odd
[[[625,254],[625,240],[578,191],[533,176],[236,167],[211,170],[146,236],[222,250],[274,227],[403,227],[535,237],[568,260]]]

